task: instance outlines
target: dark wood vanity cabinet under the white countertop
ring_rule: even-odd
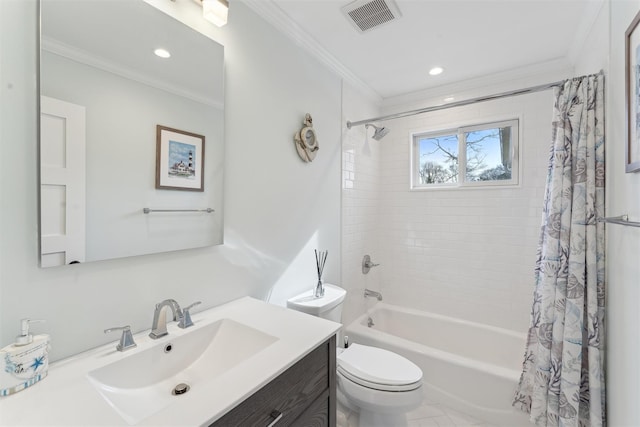
[[[334,427],[336,338],[331,337],[210,427]]]

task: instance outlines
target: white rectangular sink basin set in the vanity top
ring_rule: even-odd
[[[277,340],[242,323],[221,319],[178,330],[150,348],[131,350],[124,358],[89,372],[88,378],[129,424],[137,424],[219,380]],[[183,384],[189,391],[184,392]]]

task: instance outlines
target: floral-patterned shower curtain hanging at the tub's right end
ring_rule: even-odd
[[[531,325],[513,406],[539,426],[603,426],[604,76],[555,88]]]

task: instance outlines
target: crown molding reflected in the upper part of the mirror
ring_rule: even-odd
[[[113,61],[109,61],[103,57],[94,55],[82,49],[78,49],[74,46],[70,46],[66,43],[62,43],[58,40],[43,37],[41,47],[47,52],[62,56],[72,61],[85,64],[90,67],[94,67],[108,73],[112,73],[120,77],[124,77],[126,79],[133,80],[138,83],[142,83],[147,86],[151,86],[156,89],[181,96],[183,98],[191,99],[192,101],[196,101],[213,108],[217,108],[220,110],[224,109],[223,102],[217,101],[211,97],[203,96],[201,93],[186,90],[179,85],[174,85],[163,80],[154,79],[147,74],[139,73],[131,68],[123,67],[122,65],[116,64]]]

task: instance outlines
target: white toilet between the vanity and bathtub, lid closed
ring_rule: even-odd
[[[340,322],[347,291],[324,287],[323,297],[309,290],[289,299],[287,307]],[[338,400],[359,412],[360,426],[407,425],[406,413],[422,403],[422,370],[399,354],[354,343],[338,348],[336,362]]]

